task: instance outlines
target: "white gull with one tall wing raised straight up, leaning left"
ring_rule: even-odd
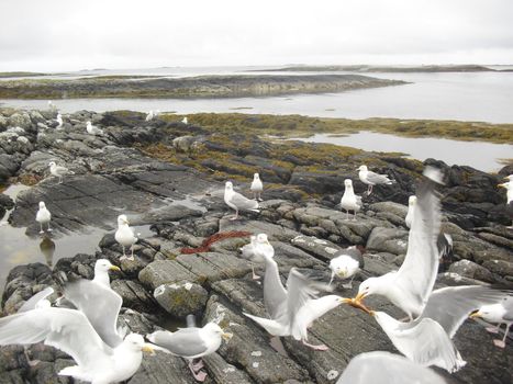
[[[426,167],[425,178],[417,188],[412,228],[408,238],[406,257],[399,271],[379,278],[369,278],[358,287],[357,302],[366,296],[386,296],[406,313],[410,320],[419,316],[427,302],[438,272],[436,239],[440,226],[439,199],[434,191],[434,181],[439,170]]]

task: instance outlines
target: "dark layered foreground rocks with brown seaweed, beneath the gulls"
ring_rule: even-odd
[[[332,145],[276,142],[253,133],[215,132],[178,118],[146,122],[144,114],[127,111],[64,115],[62,129],[56,128],[55,117],[52,110],[0,110],[0,182],[31,185],[15,201],[0,194],[0,214],[9,211],[11,226],[37,237],[34,217],[37,203],[44,201],[53,213],[56,242],[90,227],[105,235],[94,255],[74,249],[67,258],[55,260],[53,268],[44,263],[14,267],[3,289],[3,315],[15,313],[46,286],[57,290],[63,273],[91,279],[96,260],[107,258],[121,268],[111,275],[112,287],[123,297],[121,323],[132,331],[175,329],[193,313],[199,323],[216,319],[234,335],[204,359],[208,383],[334,383],[358,353],[398,353],[372,318],[344,305],[310,330],[312,342],[325,343],[328,351],[312,351],[283,338],[278,353],[269,336],[242,315],[265,316],[261,284],[252,280],[250,264],[237,256],[249,237],[221,236],[205,252],[183,248],[200,247],[216,234],[265,233],[283,279],[298,267],[314,270],[327,281],[327,263],[336,250],[361,245],[365,270],[356,280],[383,274],[397,269],[404,257],[406,204],[422,162]],[[104,134],[87,134],[87,121]],[[49,161],[66,165],[75,174],[59,184],[48,176]],[[356,171],[363,163],[397,183],[376,187],[364,199],[357,219],[346,221],[336,204],[346,178],[353,179],[357,194],[367,190]],[[513,231],[506,229],[511,222],[504,213],[505,193],[497,188],[513,168],[490,174],[434,159],[425,163],[440,167],[446,174],[440,190],[442,230],[454,239],[455,262],[438,275],[437,285],[513,287]],[[256,171],[265,183],[260,214],[227,219],[224,181],[232,180],[247,194]],[[149,226],[153,234],[136,244],[133,261],[120,262],[121,247],[113,237],[120,213],[126,213],[132,225]],[[261,274],[261,267],[258,271]],[[335,293],[352,297],[357,286],[345,290],[339,284]],[[403,316],[379,297],[370,298],[368,305]],[[482,324],[467,320],[455,337],[467,365],[453,375],[437,371],[448,383],[511,383],[512,341],[501,350],[492,339]],[[30,365],[27,357],[40,363]],[[34,345],[26,355],[22,346],[2,347],[0,383],[73,383],[56,374],[70,363],[69,357],[51,347]],[[129,383],[194,380],[183,360],[157,353],[144,357]]]

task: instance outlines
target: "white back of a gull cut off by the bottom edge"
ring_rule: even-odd
[[[446,384],[435,371],[394,353],[360,353],[349,361],[336,384]]]

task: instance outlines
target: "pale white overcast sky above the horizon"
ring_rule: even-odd
[[[0,0],[0,70],[513,64],[512,0]]]

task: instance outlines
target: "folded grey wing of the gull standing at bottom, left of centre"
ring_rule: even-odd
[[[201,354],[207,350],[199,330],[199,328],[182,328],[176,332],[157,330],[152,334],[149,340],[167,349],[171,354],[190,358]]]

